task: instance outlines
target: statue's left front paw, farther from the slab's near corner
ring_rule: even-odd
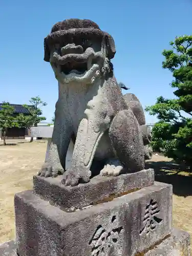
[[[57,177],[64,173],[64,169],[61,165],[44,163],[38,172],[41,177]]]

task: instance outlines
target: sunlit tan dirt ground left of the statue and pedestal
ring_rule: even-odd
[[[15,237],[14,195],[32,188],[32,177],[45,160],[46,147],[47,142],[0,145],[0,243]]]

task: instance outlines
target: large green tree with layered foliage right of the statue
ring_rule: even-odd
[[[173,73],[170,86],[176,98],[160,96],[145,110],[159,119],[152,130],[154,150],[161,149],[165,156],[192,169],[192,35],[176,37],[169,44],[172,50],[162,52],[162,67]]]

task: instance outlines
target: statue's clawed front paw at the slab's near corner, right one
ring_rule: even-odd
[[[89,182],[91,177],[91,171],[82,166],[71,167],[66,170],[63,175],[62,184],[66,186],[76,186],[79,183]]]

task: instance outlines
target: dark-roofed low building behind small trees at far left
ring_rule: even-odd
[[[0,110],[2,110],[2,104],[0,103]],[[28,109],[26,109],[23,105],[21,104],[10,104],[11,106],[14,107],[14,115],[19,115],[19,114],[24,114],[24,115],[30,115],[30,112]],[[3,133],[2,129],[0,127],[0,139],[3,139]],[[11,140],[11,139],[25,139],[26,136],[29,136],[29,131],[26,128],[18,128],[18,127],[12,127],[7,130],[6,133],[6,140]]]

